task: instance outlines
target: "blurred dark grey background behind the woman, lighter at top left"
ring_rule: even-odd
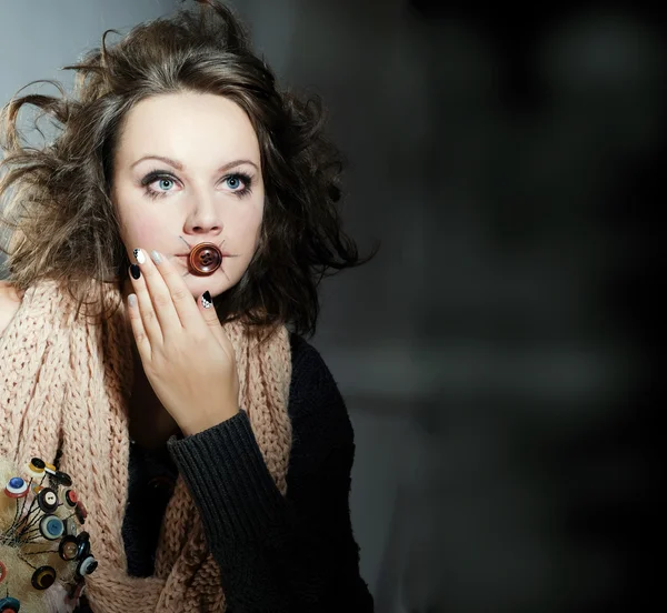
[[[2,0],[1,102],[179,4]],[[325,282],[312,339],[356,429],[377,611],[638,611],[665,566],[661,13],[235,6],[280,81],[323,97],[348,228],[381,244]]]

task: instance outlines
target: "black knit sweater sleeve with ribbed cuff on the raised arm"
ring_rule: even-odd
[[[299,340],[292,352],[285,498],[243,411],[169,450],[200,510],[228,611],[369,612],[349,512],[352,428],[317,351]]]

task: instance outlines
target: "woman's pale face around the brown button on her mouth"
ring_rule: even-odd
[[[257,249],[265,201],[257,134],[238,104],[208,93],[142,100],[126,118],[112,185],[130,261],[136,248],[155,249],[182,271],[193,297],[238,283]],[[201,242],[223,254],[210,277],[188,269]]]

